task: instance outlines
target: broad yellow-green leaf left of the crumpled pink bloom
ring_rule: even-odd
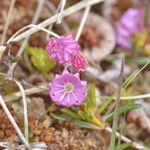
[[[49,58],[47,51],[36,47],[28,48],[28,50],[30,52],[33,65],[43,74],[48,73],[54,68],[55,62]]]

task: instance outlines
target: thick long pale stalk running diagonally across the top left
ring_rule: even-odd
[[[70,14],[72,14],[72,13],[74,13],[74,12],[80,10],[80,9],[83,9],[83,8],[86,7],[86,6],[91,6],[91,5],[100,3],[100,2],[102,2],[102,1],[103,1],[103,0],[92,0],[92,1],[91,1],[91,0],[84,0],[84,1],[81,1],[81,2],[79,2],[79,3],[77,3],[77,4],[75,4],[75,5],[73,5],[73,6],[69,7],[69,8],[67,8],[66,10],[64,10],[64,11],[62,12],[62,16],[63,16],[63,17],[68,16],[68,15],[70,15]],[[40,27],[45,28],[46,26],[48,26],[48,25],[54,23],[55,21],[57,21],[57,14],[54,15],[54,16],[52,16],[52,17],[50,17],[50,18],[48,18],[48,19],[46,19],[45,21],[39,23],[38,25],[39,25]],[[11,40],[8,40],[8,41],[7,41],[7,44],[9,44],[9,43],[11,43],[11,42],[20,41],[20,40],[22,40],[23,38],[25,38],[25,37],[27,37],[27,36],[29,36],[29,35],[31,35],[31,34],[37,32],[38,30],[39,30],[39,29],[37,29],[37,28],[28,29],[27,31],[21,33],[21,34],[18,35],[17,37],[15,37],[15,38],[13,38],[13,39],[11,39]]]

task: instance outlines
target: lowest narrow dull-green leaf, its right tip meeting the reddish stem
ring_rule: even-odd
[[[73,123],[75,125],[78,125],[82,128],[86,128],[86,129],[95,129],[95,130],[99,130],[100,128],[92,123],[89,122],[85,122],[85,121],[80,121],[80,120],[73,120]]]

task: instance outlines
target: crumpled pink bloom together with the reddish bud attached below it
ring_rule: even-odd
[[[50,38],[46,50],[49,56],[59,63],[69,63],[76,71],[85,69],[86,60],[80,54],[80,47],[72,35]]]

